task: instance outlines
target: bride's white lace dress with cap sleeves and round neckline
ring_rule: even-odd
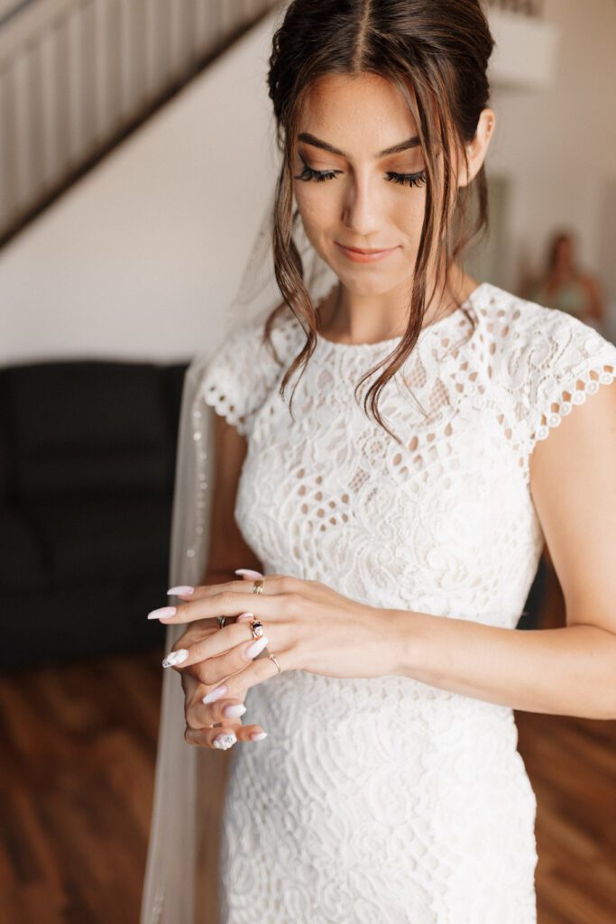
[[[320,337],[294,422],[278,383],[304,339],[285,318],[280,367],[252,322],[202,383],[248,440],[236,521],[265,573],[513,631],[544,542],[529,456],[613,380],[616,346],[484,283],[381,392],[400,445],[354,397],[398,338]],[[220,924],[535,924],[536,799],[512,709],[404,676],[303,671],[246,704],[268,737],[231,755]]]

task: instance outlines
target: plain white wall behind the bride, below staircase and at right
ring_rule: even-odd
[[[616,3],[546,0],[560,29],[545,93],[496,89],[489,171],[511,180],[502,284],[554,225],[614,279]],[[274,180],[265,75],[275,17],[0,251],[0,364],[186,359],[233,298]]]

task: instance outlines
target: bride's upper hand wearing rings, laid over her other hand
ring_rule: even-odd
[[[182,670],[200,663],[203,683],[218,687],[224,680],[226,697],[278,673],[265,656],[253,661],[245,651],[255,640],[250,622],[263,624],[266,647],[281,671],[303,670],[332,677],[376,677],[396,672],[401,640],[393,611],[350,600],[317,580],[287,575],[262,577],[262,593],[254,593],[249,577],[207,587],[196,587],[175,615],[161,618],[164,624],[191,623],[208,616],[249,613],[223,628],[212,627],[206,638],[183,645],[180,636],[174,652],[186,650],[183,660],[170,666]],[[182,596],[182,595],[180,595]],[[185,633],[188,636],[188,633]],[[194,635],[194,634],[193,634]],[[257,652],[259,653],[259,652]],[[253,655],[254,657],[254,655]]]

